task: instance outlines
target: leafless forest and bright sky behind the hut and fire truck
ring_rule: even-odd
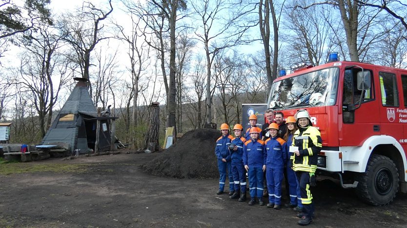
[[[403,0],[103,0],[57,11],[0,1],[0,122],[39,143],[74,86],[112,105],[116,134],[140,148],[151,102],[160,134],[240,123],[278,70],[341,60],[407,67]],[[54,12],[55,11],[55,12]]]

